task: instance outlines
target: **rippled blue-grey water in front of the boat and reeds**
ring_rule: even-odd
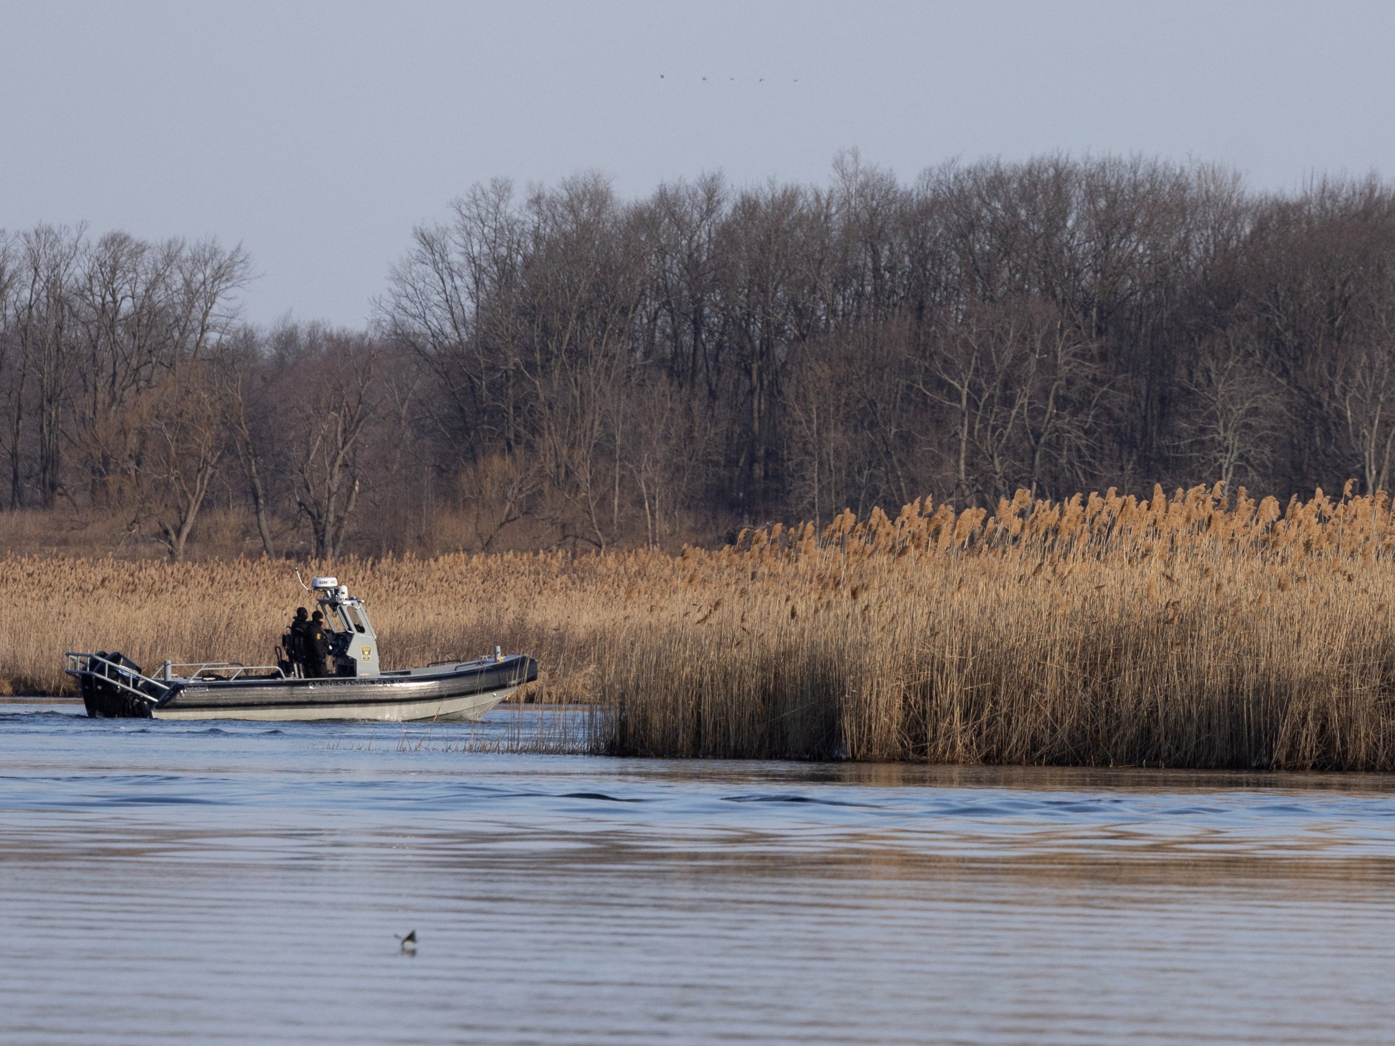
[[[1395,1039],[1382,777],[75,711],[0,706],[6,1043]]]

